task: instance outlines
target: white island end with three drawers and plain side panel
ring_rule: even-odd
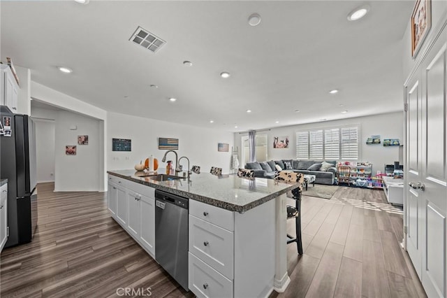
[[[241,214],[189,200],[189,290],[197,297],[270,294],[274,203],[271,200]]]

